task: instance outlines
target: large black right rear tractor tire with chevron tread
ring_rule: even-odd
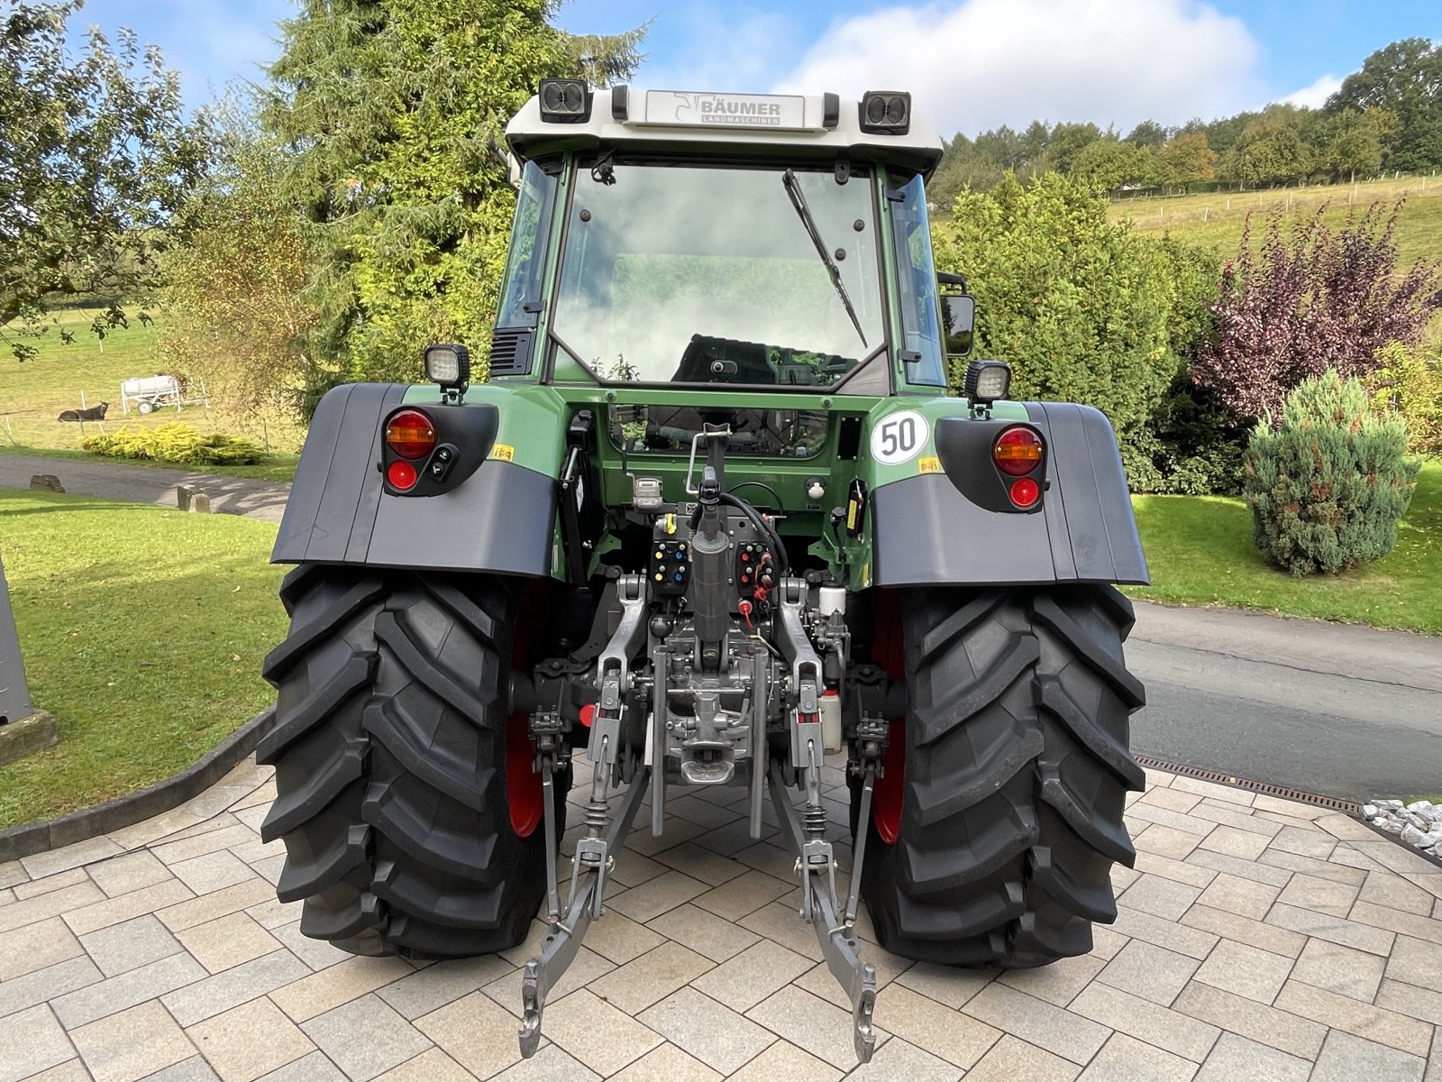
[[[903,649],[880,628],[877,659],[904,654],[907,716],[862,871],[878,942],[950,965],[1086,954],[1092,922],[1116,919],[1112,864],[1135,860],[1125,796],[1145,783],[1128,750],[1145,703],[1122,658],[1131,603],[1076,586],[916,590],[897,607]]]

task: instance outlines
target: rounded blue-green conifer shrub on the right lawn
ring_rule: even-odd
[[[1420,466],[1406,450],[1406,426],[1374,413],[1361,381],[1335,372],[1302,381],[1280,424],[1257,424],[1247,447],[1253,541],[1296,576],[1386,555]]]

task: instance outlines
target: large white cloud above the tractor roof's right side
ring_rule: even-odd
[[[937,131],[1180,124],[1266,97],[1242,20],[1193,0],[963,0],[839,19],[784,91],[910,89]]]

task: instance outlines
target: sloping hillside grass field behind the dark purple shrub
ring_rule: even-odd
[[[1309,214],[1322,203],[1331,203],[1327,222],[1332,228],[1340,228],[1347,221],[1348,212],[1364,211],[1377,201],[1390,206],[1402,195],[1407,196],[1407,202],[1397,221],[1400,265],[1410,267],[1417,260],[1442,258],[1442,176],[1262,192],[1119,199],[1112,203],[1112,216],[1129,218],[1138,232],[1168,232],[1178,239],[1203,244],[1230,255],[1242,242],[1242,229],[1249,214],[1253,215],[1253,235],[1256,235],[1265,224],[1268,211],[1278,205],[1289,206],[1293,214]]]

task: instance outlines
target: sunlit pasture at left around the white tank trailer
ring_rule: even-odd
[[[200,431],[248,436],[277,456],[293,456],[300,449],[304,433],[294,421],[241,417],[219,404],[211,410],[186,407],[180,413],[166,408],[146,417],[131,408],[128,417],[123,415],[120,382],[154,375],[166,368],[160,355],[160,327],[144,327],[131,319],[128,329],[111,330],[101,349],[99,340],[89,330],[94,317],[94,312],[84,310],[59,313],[59,326],[50,327],[48,335],[35,342],[39,353],[23,364],[7,352],[0,353],[0,452],[78,450],[81,426],[55,418],[61,410],[79,407],[82,395],[87,405],[110,403],[110,415],[104,423],[110,431],[121,426],[153,427],[180,420]],[[62,329],[75,336],[71,345],[61,340]],[[87,423],[85,431],[95,433],[98,427]],[[270,467],[270,473],[260,476],[283,472],[288,478],[294,472],[294,459],[262,463],[261,469],[265,467]],[[239,469],[245,467],[216,472],[236,473]]]

